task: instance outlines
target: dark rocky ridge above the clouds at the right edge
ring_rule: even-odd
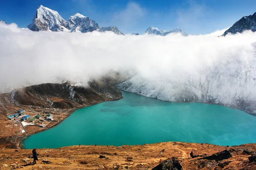
[[[228,33],[236,34],[241,33],[245,30],[251,30],[253,32],[256,31],[256,12],[253,15],[242,17],[240,20],[238,20],[232,27],[227,29],[224,32],[224,36]]]

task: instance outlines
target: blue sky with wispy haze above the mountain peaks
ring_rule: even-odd
[[[126,34],[143,34],[148,26],[208,34],[256,12],[256,0],[3,0],[0,20],[25,28],[39,5],[58,11],[65,20],[80,13],[100,27],[117,26]]]

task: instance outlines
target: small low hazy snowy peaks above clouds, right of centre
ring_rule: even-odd
[[[180,28],[175,28],[172,31],[168,31],[168,30],[161,30],[154,27],[148,27],[148,29],[145,31],[145,34],[153,34],[153,35],[160,35],[160,36],[166,36],[167,34],[171,34],[171,33],[180,33],[183,36],[188,35],[185,31],[181,30]]]

